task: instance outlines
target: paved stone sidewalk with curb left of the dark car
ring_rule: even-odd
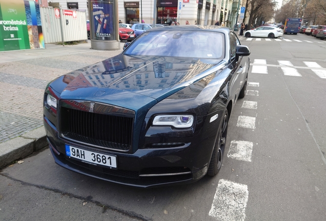
[[[46,49],[0,52],[0,168],[47,145],[43,95],[51,80],[122,51],[90,47],[46,44]]]

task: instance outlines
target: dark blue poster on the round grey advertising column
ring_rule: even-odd
[[[114,2],[91,1],[93,40],[115,39]]]

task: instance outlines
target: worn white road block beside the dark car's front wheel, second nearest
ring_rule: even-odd
[[[228,157],[251,162],[253,145],[253,142],[249,141],[231,141]]]

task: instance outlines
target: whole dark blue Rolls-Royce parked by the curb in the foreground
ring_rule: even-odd
[[[192,25],[151,29],[126,44],[46,87],[55,163],[144,188],[216,175],[229,118],[246,95],[249,48],[229,28]]]

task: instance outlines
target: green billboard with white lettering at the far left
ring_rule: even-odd
[[[0,0],[0,51],[45,48],[39,5]]]

